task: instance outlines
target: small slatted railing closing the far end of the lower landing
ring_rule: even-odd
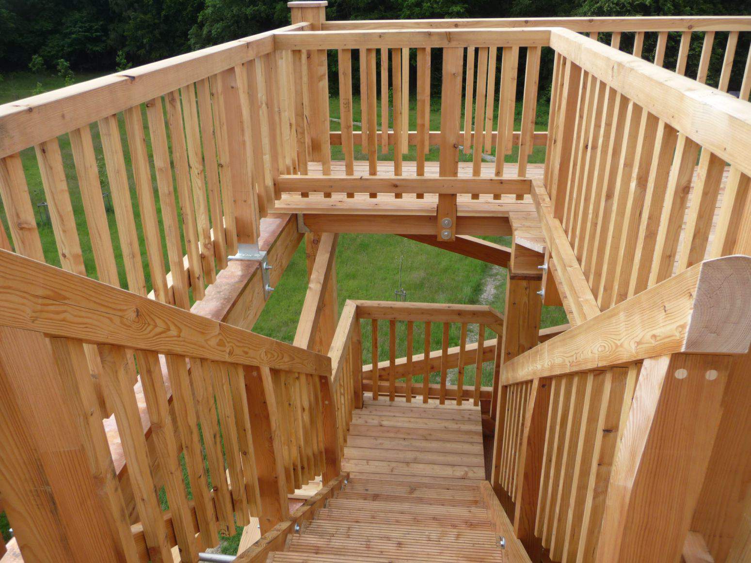
[[[373,399],[388,395],[389,400],[404,396],[407,401],[420,398],[439,399],[444,404],[447,399],[457,405],[465,400],[475,406],[481,405],[484,412],[490,411],[493,401],[493,386],[482,385],[484,363],[493,361],[493,380],[499,370],[499,347],[497,339],[490,339],[488,330],[496,335],[503,332],[503,318],[492,307],[471,305],[447,305],[443,303],[392,303],[386,301],[355,301],[357,318],[370,321],[372,363],[363,366],[363,392],[371,392]],[[379,321],[388,321],[388,360],[379,362]],[[421,331],[424,346],[415,342],[415,323],[424,324]],[[441,328],[441,348],[432,350],[431,334],[433,323]],[[397,358],[397,326],[404,324],[406,331],[406,356]],[[459,345],[451,347],[451,325],[460,327]],[[467,342],[469,325],[477,325],[477,342]],[[401,328],[399,330],[401,333]],[[419,332],[419,331],[418,331]],[[423,354],[415,354],[415,345],[424,349]],[[427,359],[427,361],[426,361]],[[375,369],[374,369],[375,366]],[[475,366],[472,384],[465,383],[464,369]],[[456,384],[448,383],[449,370],[457,370]],[[431,375],[439,373],[439,382],[432,383]],[[412,379],[421,377],[421,383]],[[404,382],[400,381],[404,380]]]

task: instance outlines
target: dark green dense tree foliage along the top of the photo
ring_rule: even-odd
[[[330,0],[330,20],[749,14],[751,0]],[[0,0],[0,70],[128,68],[284,26],[279,0]]]

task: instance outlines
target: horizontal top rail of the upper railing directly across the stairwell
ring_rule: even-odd
[[[283,32],[276,50],[379,49],[381,47],[547,47],[550,29],[363,30]]]

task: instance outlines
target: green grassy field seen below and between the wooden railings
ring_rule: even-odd
[[[87,80],[91,75],[78,75],[77,80]],[[38,86],[41,84],[41,86]],[[0,81],[0,103],[14,101],[19,98],[35,93],[35,90],[49,90],[63,86],[63,80],[60,77],[48,74],[18,73],[5,77]],[[412,92],[414,96],[415,92]],[[536,128],[545,130],[547,128],[547,104],[542,104],[543,108],[538,111]],[[410,101],[411,123],[410,128],[416,128],[415,122],[415,98]],[[355,120],[360,116],[360,100],[354,98],[353,109]],[[517,125],[521,113],[521,104],[516,108]],[[380,113],[380,104],[379,104]],[[330,116],[339,118],[339,100],[330,98]],[[495,119],[495,118],[494,118]],[[145,122],[144,117],[144,122]],[[380,116],[379,116],[380,122]],[[495,121],[494,121],[495,122]],[[439,128],[440,123],[440,101],[434,96],[433,107],[431,111],[431,127]],[[339,122],[331,123],[332,130],[339,129]],[[357,127],[356,127],[357,128]],[[137,222],[137,232],[140,237],[140,245],[143,250],[143,231],[140,227],[140,218],[137,211],[137,199],[134,191],[134,182],[131,174],[130,155],[128,153],[128,144],[125,138],[125,128],[122,125],[121,117],[121,135],[122,144],[125,152],[125,164],[128,168],[129,181],[131,185],[131,200],[134,203],[134,216]],[[101,154],[101,141],[99,140],[96,125],[92,126],[92,136],[97,154]],[[150,140],[148,132],[146,133],[146,143],[150,151]],[[80,191],[77,185],[77,179],[74,169],[74,162],[71,155],[71,146],[68,136],[64,135],[59,138],[63,160],[65,164],[65,173],[68,179],[68,186],[71,194],[71,203],[73,205],[74,215],[77,218],[77,230],[80,235],[80,241],[83,251],[84,263],[89,276],[96,277],[95,263],[92,254],[91,242],[86,228],[86,219],[83,213],[83,204],[81,202]],[[516,151],[507,157],[508,161],[516,160]],[[333,147],[332,155],[334,159],[343,158],[341,148]],[[428,160],[438,160],[438,149],[432,147]],[[355,158],[366,159],[366,155],[361,152],[355,152]],[[460,153],[462,160],[471,160],[471,155]],[[44,201],[44,190],[41,185],[39,170],[36,164],[36,158],[33,149],[26,149],[22,153],[23,166],[26,172],[26,179],[29,184],[29,192],[32,197],[32,204],[38,215],[38,228],[44,248],[44,254],[49,263],[59,265],[54,233],[49,221],[41,221],[37,204]],[[415,159],[415,147],[412,147],[409,155],[405,160]],[[535,147],[531,162],[541,162],[544,159],[544,148]],[[393,160],[393,152],[383,155],[379,149],[379,160]],[[100,166],[100,177],[103,191],[108,191],[107,176],[104,172],[104,162]],[[155,182],[154,182],[155,185]],[[158,197],[156,199],[157,206]],[[125,270],[122,266],[122,255],[119,248],[119,241],[116,233],[116,223],[114,214],[111,209],[108,210],[108,219],[110,224],[110,233],[112,235],[113,247],[116,254],[116,260],[119,263],[120,281],[123,287],[126,287]],[[161,210],[158,209],[158,215],[161,217]],[[5,211],[0,206],[0,219],[3,221],[3,227],[6,232],[8,223],[5,218]],[[508,244],[508,240],[490,238],[496,242]],[[146,272],[146,283],[151,288],[148,278],[148,267],[146,263],[145,252],[143,252],[144,271]],[[166,248],[164,248],[165,260],[167,257]],[[409,239],[403,239],[393,235],[363,235],[363,234],[345,234],[339,239],[339,247],[336,252],[337,276],[339,284],[339,307],[341,308],[346,299],[363,299],[363,300],[394,300],[394,291],[400,287],[407,292],[407,300],[413,302],[435,302],[435,303],[478,303],[484,288],[495,287],[492,297],[487,303],[502,312],[505,308],[505,272],[500,272],[494,266],[487,263],[462,257],[448,251],[442,251],[419,242]],[[399,283],[400,262],[402,263],[401,285]],[[490,280],[488,279],[490,278]],[[261,318],[259,318],[254,330],[258,333],[274,338],[291,342],[297,327],[297,319],[302,306],[306,291],[306,263],[304,245],[298,248],[293,260],[288,266],[285,275],[282,277],[276,291],[267,303]],[[553,326],[566,322],[565,314],[560,308],[547,308],[543,310],[542,325],[543,327]],[[406,328],[402,326],[397,329],[397,357],[406,353]],[[381,323],[379,331],[379,341],[388,342],[388,323]],[[421,353],[423,342],[423,325],[415,325],[415,352]],[[440,348],[441,330],[438,325],[433,327],[432,331],[433,348]],[[487,338],[492,337],[490,333]],[[363,360],[370,362],[370,336],[369,328],[363,324]],[[451,345],[458,345],[459,342],[459,325],[452,326]],[[379,351],[380,360],[388,358],[388,351],[384,345]],[[436,378],[437,375],[433,375]],[[483,383],[490,384],[490,364],[486,364],[483,375]],[[419,378],[416,379],[419,381]],[[466,384],[472,384],[474,381],[474,368],[466,370]],[[8,521],[5,514],[0,513],[0,531],[2,531],[4,540],[8,540]],[[228,538],[222,542],[222,551],[234,553],[237,551],[237,542],[240,535]]]

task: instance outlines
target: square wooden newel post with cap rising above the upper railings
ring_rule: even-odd
[[[288,2],[292,23],[309,23],[306,31],[319,32],[326,21],[328,2]],[[323,173],[331,173],[329,140],[328,63],[326,50],[310,50],[306,54],[303,70],[307,83],[305,114],[310,137],[310,159],[320,161]]]

